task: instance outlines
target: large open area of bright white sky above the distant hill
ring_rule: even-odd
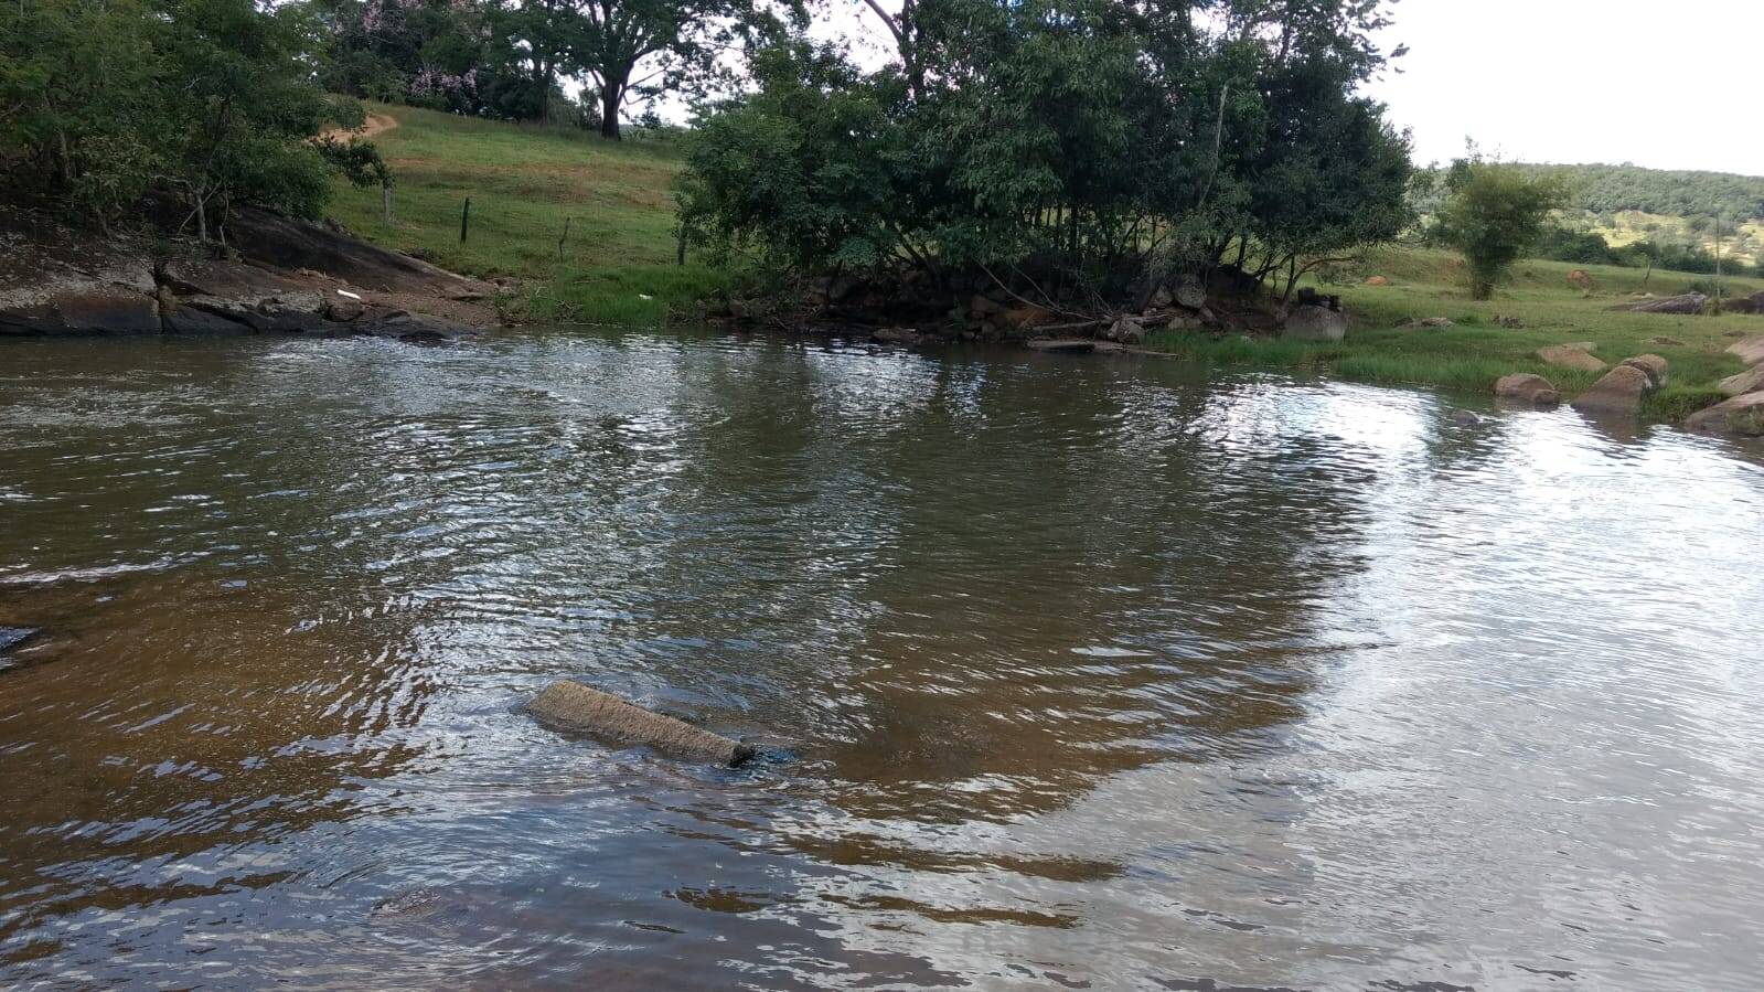
[[[1371,94],[1415,161],[1764,175],[1764,0],[1399,0]]]

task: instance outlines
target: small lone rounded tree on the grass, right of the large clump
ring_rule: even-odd
[[[1551,210],[1568,201],[1556,175],[1526,171],[1480,157],[1452,162],[1439,226],[1446,244],[1464,252],[1469,295],[1487,300],[1506,268],[1544,235]]]

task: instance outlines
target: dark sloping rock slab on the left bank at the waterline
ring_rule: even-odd
[[[490,289],[348,235],[245,208],[236,256],[194,242],[99,238],[0,210],[0,337],[310,334],[446,339],[494,312],[459,298]],[[168,249],[169,245],[169,249]],[[279,258],[300,263],[279,268]],[[356,282],[360,279],[360,282]],[[413,307],[439,304],[445,312]],[[473,325],[460,323],[466,316]]]

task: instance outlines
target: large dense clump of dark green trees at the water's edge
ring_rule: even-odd
[[[877,11],[889,65],[790,39],[700,122],[690,237],[796,274],[984,274],[1094,302],[1222,263],[1289,288],[1406,222],[1406,136],[1355,94],[1383,64],[1378,4]]]

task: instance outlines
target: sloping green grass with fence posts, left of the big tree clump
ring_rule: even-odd
[[[393,222],[379,191],[339,180],[330,215],[351,231],[443,268],[513,277],[508,304],[534,319],[654,323],[723,288],[713,268],[676,265],[677,147],[605,141],[577,129],[369,106],[399,127],[372,138],[393,173]],[[459,240],[460,207],[471,224]],[[570,219],[570,235],[557,242]],[[649,297],[647,300],[644,297]]]

